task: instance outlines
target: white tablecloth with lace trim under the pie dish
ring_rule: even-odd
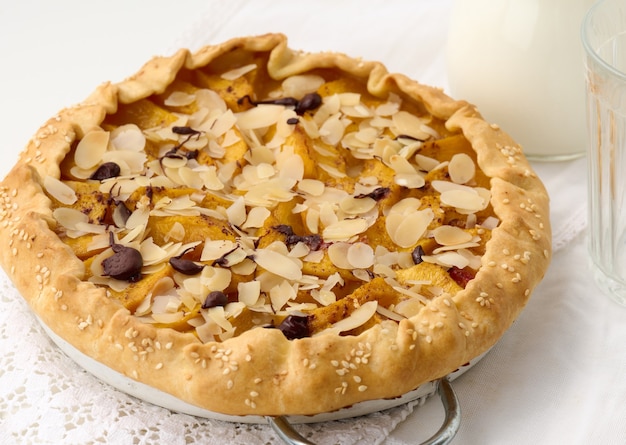
[[[78,0],[0,6],[0,174],[37,127],[155,54],[284,32],[290,46],[383,61],[447,88],[450,0]],[[478,104],[480,105],[480,104]],[[555,255],[525,311],[453,383],[459,444],[626,443],[626,309],[587,268],[584,159],[536,164],[552,198]],[[409,444],[439,427],[436,399],[298,426],[319,444]],[[265,426],[169,412],[99,382],[61,353],[0,272],[0,443],[278,444]]]

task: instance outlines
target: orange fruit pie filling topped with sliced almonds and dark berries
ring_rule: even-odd
[[[73,144],[43,185],[83,279],[202,342],[357,335],[462,290],[499,223],[465,137],[337,71],[266,65],[182,70]]]

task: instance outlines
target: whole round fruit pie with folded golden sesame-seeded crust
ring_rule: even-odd
[[[393,398],[494,345],[548,197],[474,106],[270,34],[100,86],[1,185],[1,261],[83,354],[226,415]]]

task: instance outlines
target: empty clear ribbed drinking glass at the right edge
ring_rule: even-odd
[[[589,160],[589,252],[601,289],[626,305],[626,1],[582,24]]]

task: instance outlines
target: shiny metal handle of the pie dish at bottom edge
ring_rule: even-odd
[[[439,431],[420,445],[447,445],[452,441],[454,436],[456,436],[461,426],[461,407],[459,406],[459,400],[454,393],[454,389],[452,389],[452,384],[447,377],[437,381],[437,393],[443,404],[446,416]],[[285,417],[267,416],[266,419],[272,429],[278,434],[278,437],[286,444],[315,445],[313,442],[308,441],[298,434]]]

